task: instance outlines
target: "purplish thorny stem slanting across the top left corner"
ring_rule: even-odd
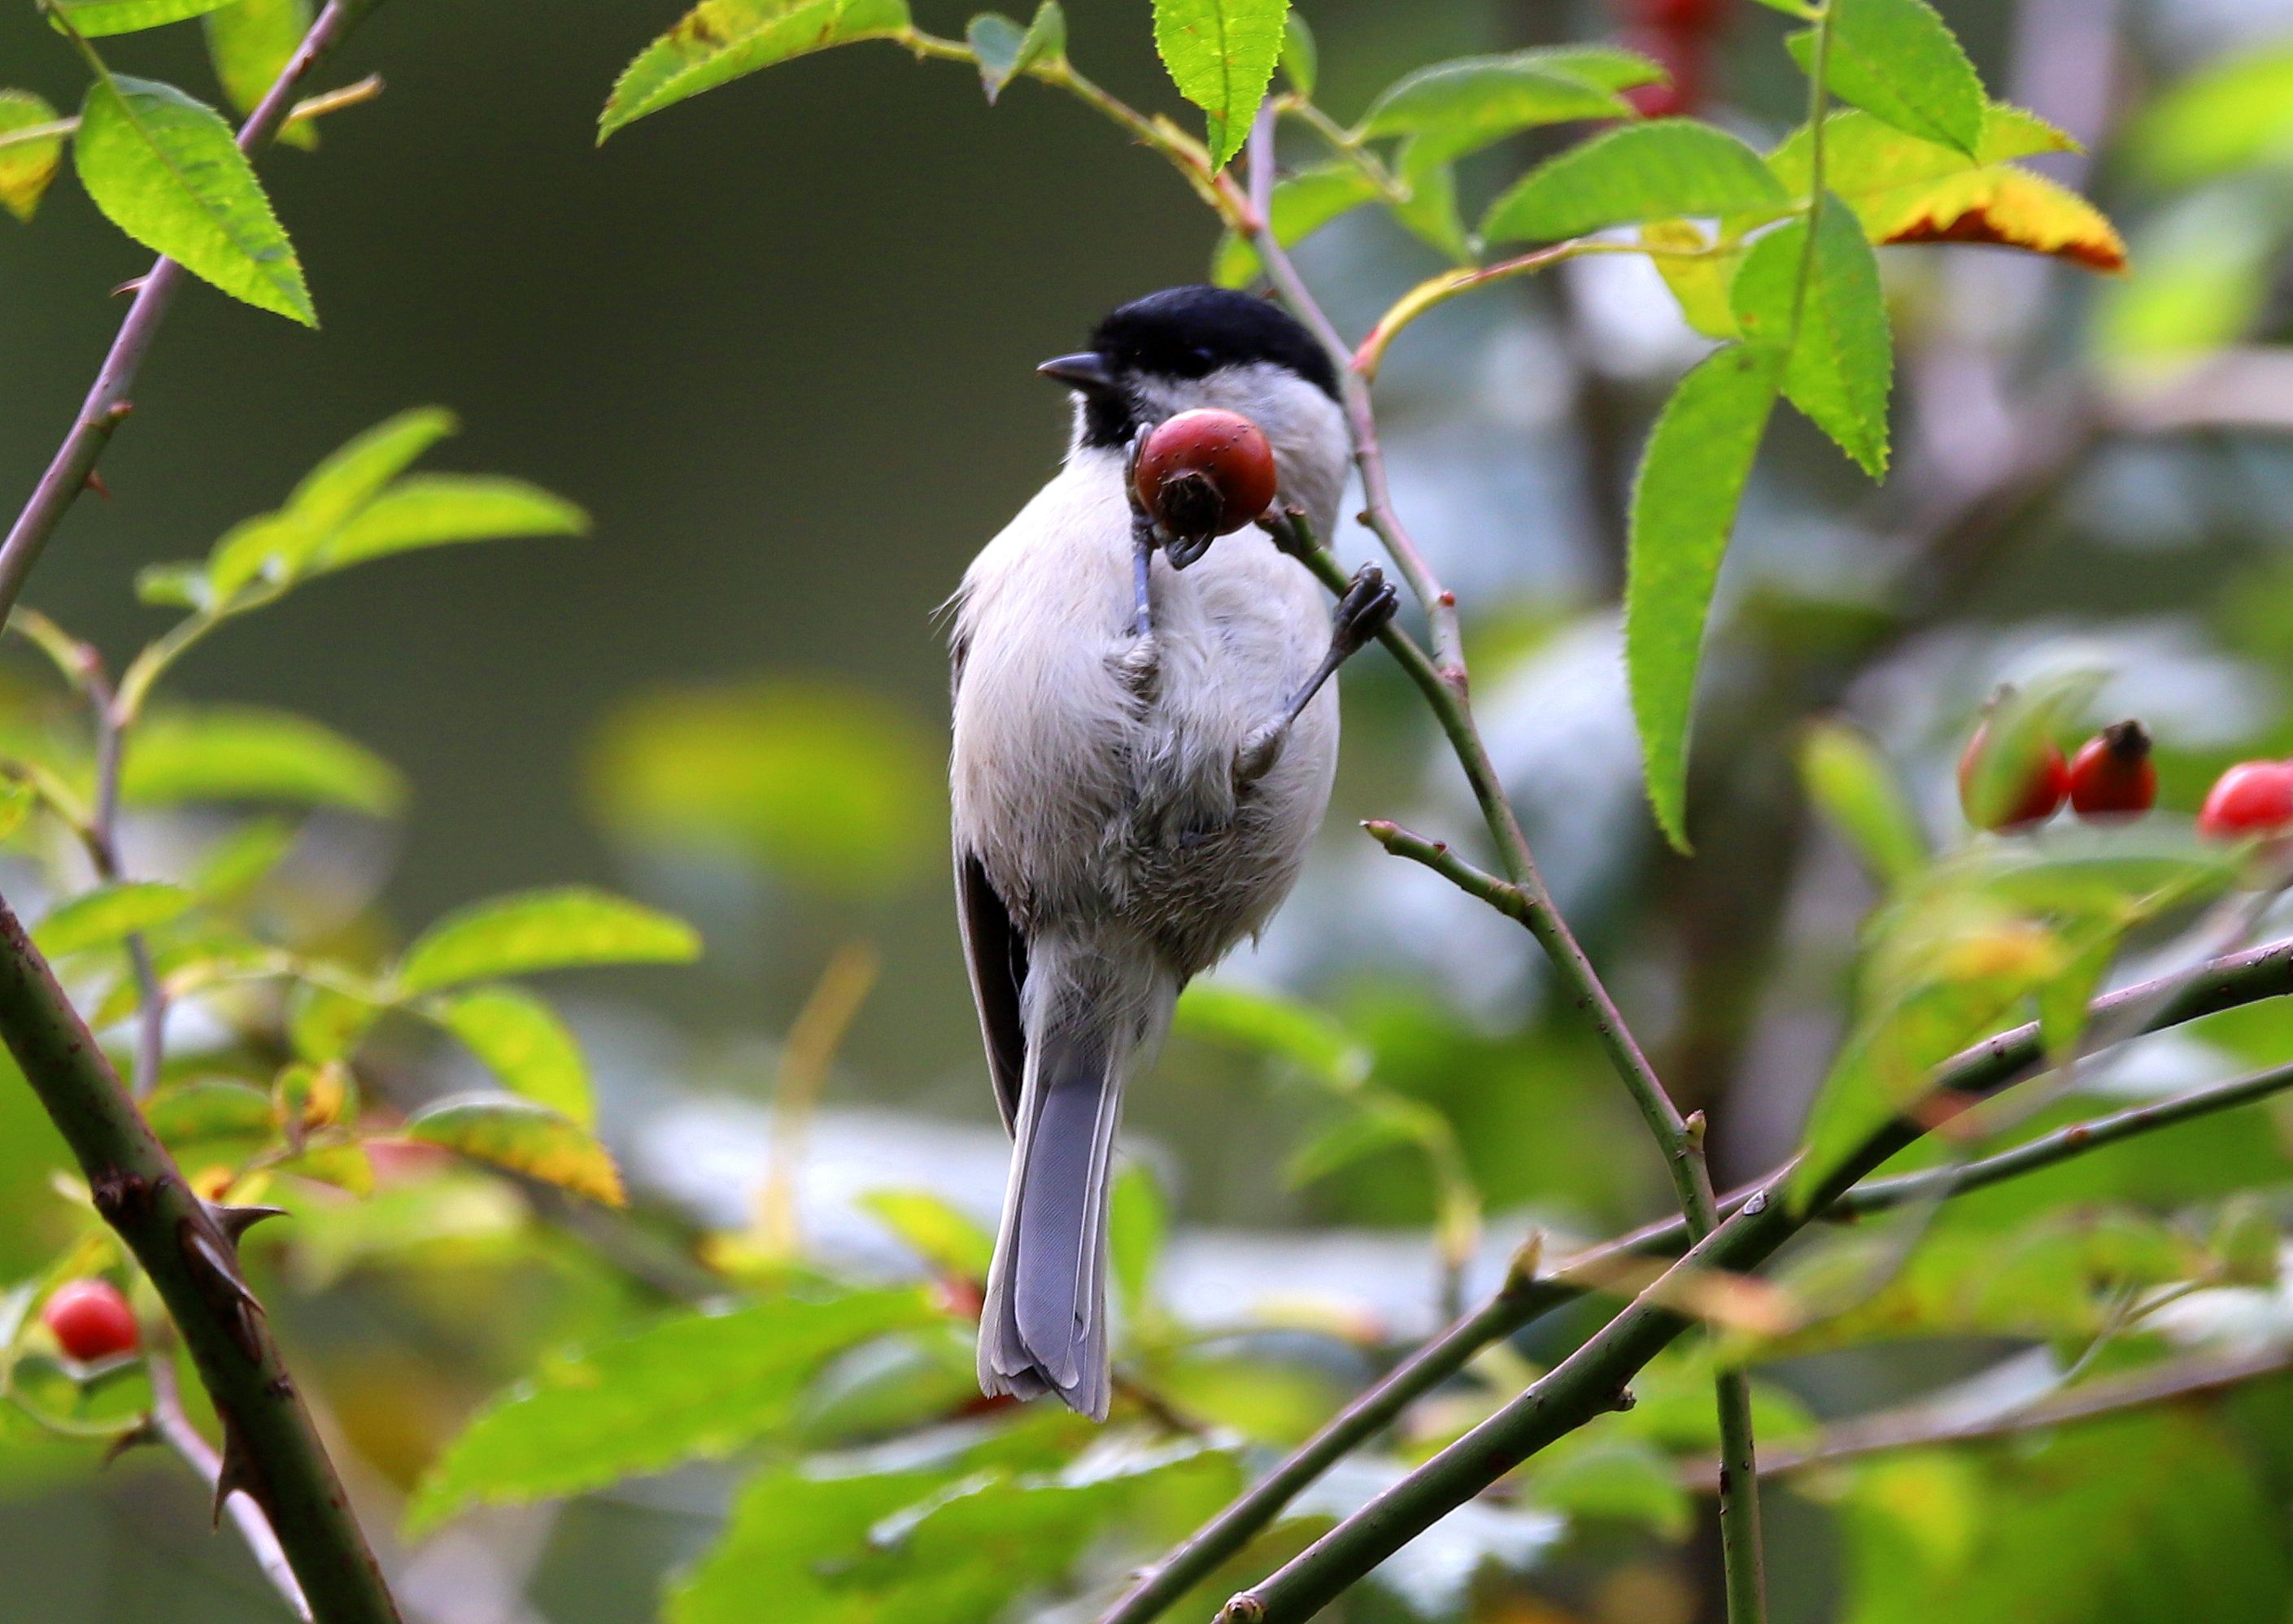
[[[319,21],[312,23],[310,34],[303,37],[303,44],[280,71],[277,83],[271,85],[255,112],[248,115],[248,122],[238,126],[241,151],[255,154],[277,135],[294,110],[296,89],[300,89],[303,80],[376,5],[381,0],[328,0]],[[23,583],[32,573],[32,564],[39,562],[48,537],[55,534],[71,502],[87,486],[87,477],[96,470],[96,459],[103,456],[112,431],[135,411],[128,401],[128,390],[135,388],[135,374],[142,372],[144,356],[151,353],[151,339],[158,337],[158,328],[167,319],[167,310],[174,305],[181,287],[183,266],[165,257],[142,278],[135,303],[128,307],[126,321],[119,323],[119,337],[112,339],[112,349],[96,372],[94,388],[80,401],[80,413],[73,417],[71,431],[55,450],[48,470],[32,489],[32,498],[9,528],[7,541],[0,541],[0,622],[7,619],[7,612],[16,608],[16,599],[23,596]]]

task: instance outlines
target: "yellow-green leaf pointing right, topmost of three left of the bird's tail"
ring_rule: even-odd
[[[397,982],[426,993],[459,982],[582,963],[688,963],[702,952],[683,920],[624,897],[564,885],[459,908],[431,924],[399,963]]]

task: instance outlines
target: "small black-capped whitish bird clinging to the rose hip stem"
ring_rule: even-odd
[[[1332,619],[1279,509],[1328,537],[1348,438],[1330,356],[1273,305],[1176,287],[1078,356],[1066,463],[954,599],[956,911],[1011,1184],[979,1385],[1108,1413],[1108,1186],[1124,1083],[1179,989],[1266,927],[1337,766],[1339,661],[1394,615],[1364,567]],[[1222,408],[1273,447],[1270,530],[1163,530],[1146,436]]]

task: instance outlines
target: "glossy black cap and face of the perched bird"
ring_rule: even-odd
[[[1082,395],[1082,443],[1126,445],[1140,427],[1140,385],[1206,378],[1222,367],[1284,367],[1337,399],[1330,353],[1263,298],[1227,287],[1169,287],[1133,298],[1091,330],[1091,346],[1036,372]]]

